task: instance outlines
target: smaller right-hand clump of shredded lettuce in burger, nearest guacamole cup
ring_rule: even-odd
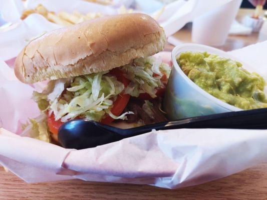
[[[135,59],[132,63],[121,67],[131,83],[126,87],[125,93],[138,97],[140,93],[156,96],[156,87],[162,86],[161,77],[169,77],[170,67],[153,56]],[[157,74],[156,76],[154,74]]]

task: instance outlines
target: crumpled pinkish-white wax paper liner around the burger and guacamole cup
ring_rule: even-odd
[[[262,42],[230,53],[256,66],[266,79],[266,48],[267,42]],[[160,56],[166,59],[169,53]],[[0,62],[0,162],[27,182],[80,178],[177,188],[267,160],[267,130],[161,130],[83,150],[22,137],[13,132],[20,133],[20,123],[38,115],[30,99],[36,85],[19,82],[13,61],[8,63],[11,66]]]

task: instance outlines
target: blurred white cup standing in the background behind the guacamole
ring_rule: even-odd
[[[242,0],[231,0],[194,19],[192,41],[212,46],[223,45],[241,2]]]

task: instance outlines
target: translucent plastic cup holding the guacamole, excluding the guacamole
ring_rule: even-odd
[[[236,57],[210,46],[193,43],[185,43],[176,46],[171,54],[173,67],[163,100],[164,111],[167,112],[168,117],[174,120],[191,116],[242,110],[212,96],[187,77],[176,61],[176,56],[179,56],[179,54],[184,51],[207,51],[233,60],[238,60]],[[242,64],[244,68],[246,68],[246,64],[243,62]]]

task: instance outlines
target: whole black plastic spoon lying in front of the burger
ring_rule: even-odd
[[[139,135],[152,129],[175,128],[266,129],[267,108],[196,116],[128,129],[116,128],[91,120],[75,119],[60,127],[58,138],[65,148],[83,149]]]

